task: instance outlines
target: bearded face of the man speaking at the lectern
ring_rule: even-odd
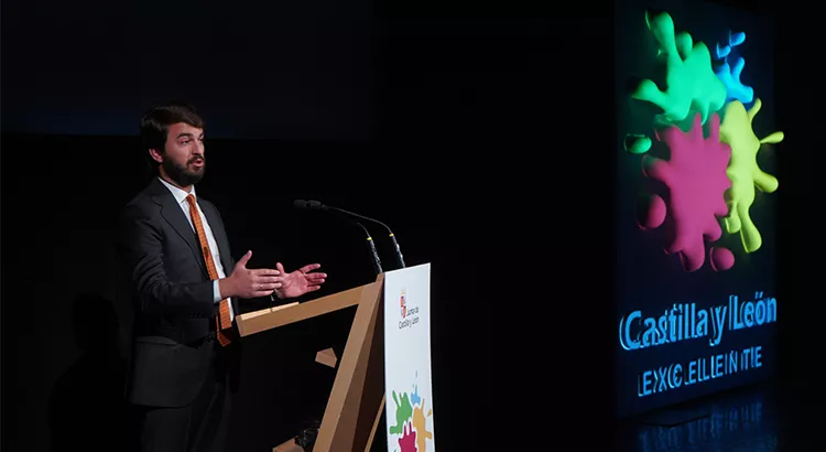
[[[187,123],[176,123],[166,133],[163,154],[153,154],[161,170],[178,186],[196,184],[204,176],[204,130]],[[159,158],[161,160],[159,160]]]

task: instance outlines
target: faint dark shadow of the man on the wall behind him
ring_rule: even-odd
[[[81,355],[48,399],[52,450],[109,452],[121,443],[124,413],[118,316],[111,301],[89,293],[75,299],[72,322]]]

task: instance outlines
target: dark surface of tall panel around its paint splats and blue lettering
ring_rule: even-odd
[[[621,316],[635,310],[643,318],[659,318],[675,303],[696,303],[697,310],[728,305],[729,294],[739,298],[740,303],[754,300],[754,292],[762,291],[764,297],[776,297],[778,290],[778,236],[776,217],[780,191],[785,191],[785,179],[780,181],[780,189],[772,194],[758,191],[750,208],[751,218],[760,230],[763,244],[753,254],[743,250],[740,234],[727,234],[716,241],[735,254],[735,266],[717,272],[711,269],[708,254],[704,266],[694,272],[683,270],[678,255],[666,255],[663,225],[656,229],[643,230],[638,226],[638,201],[641,195],[656,193],[667,200],[667,189],[652,183],[642,173],[643,155],[634,155],[622,149],[626,133],[644,133],[654,139],[654,115],[660,112],[648,103],[633,100],[627,90],[629,80],[634,77],[657,78],[656,41],[645,25],[645,8],[657,9],[670,13],[674,20],[675,32],[688,32],[694,43],[703,42],[711,53],[713,64],[719,64],[716,44],[728,44],[729,31],[745,32],[746,42],[735,47],[732,55],[746,60],[741,80],[754,89],[756,98],[762,100],[762,108],[754,118],[753,129],[759,138],[778,130],[775,121],[776,97],[774,96],[774,52],[775,25],[765,13],[739,10],[725,4],[708,2],[624,1],[626,6],[615,15],[617,40],[616,77],[617,86],[617,141],[615,149],[620,159],[617,164],[617,325]],[[729,60],[731,63],[735,57]],[[665,85],[660,85],[665,86]],[[753,105],[746,104],[747,109]],[[725,107],[724,107],[725,108]],[[721,114],[721,111],[720,111]],[[706,127],[707,128],[707,127]],[[654,140],[649,152],[669,159],[664,146]],[[780,153],[786,151],[785,143],[764,144],[758,153],[760,168],[769,174],[778,174]],[[722,223],[720,222],[722,227]],[[780,305],[786,302],[778,298]],[[727,319],[731,316],[727,309]],[[781,315],[784,309],[779,308]],[[688,318],[688,316],[686,316]],[[639,330],[639,329],[637,329]],[[635,330],[635,331],[637,331]],[[713,327],[708,324],[709,335]],[[719,392],[727,388],[741,386],[771,377],[776,367],[776,324],[767,324],[749,330],[730,331],[728,323],[721,342],[709,346],[708,337],[686,340],[676,344],[664,344],[646,349],[624,351],[618,337],[617,348],[617,391],[618,415],[620,417],[640,413],[653,408],[673,405],[699,396]],[[638,380],[646,370],[678,363],[683,366],[683,378],[688,374],[688,363],[705,358],[710,370],[710,357],[746,347],[762,346],[762,367],[738,372],[677,389],[655,392],[644,397],[638,396]],[[699,366],[702,367],[702,366]],[[651,385],[650,385],[651,386]]]

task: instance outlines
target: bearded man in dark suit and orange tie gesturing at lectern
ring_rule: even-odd
[[[118,255],[134,306],[126,396],[140,452],[224,451],[240,338],[239,300],[319,289],[317,263],[285,272],[232,259],[215,205],[195,193],[206,166],[204,121],[189,106],[153,108],[141,120],[156,176],[120,218]]]

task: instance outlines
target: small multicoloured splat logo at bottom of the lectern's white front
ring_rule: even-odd
[[[388,435],[398,444],[394,452],[426,452],[433,441],[433,408],[419,396],[417,385],[413,385],[410,394],[394,390],[392,395],[395,422],[388,422]]]

